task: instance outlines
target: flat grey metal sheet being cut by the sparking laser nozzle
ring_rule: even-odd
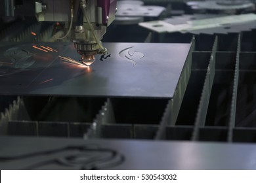
[[[49,46],[43,52],[32,46]],[[91,67],[79,60],[72,43],[16,44],[0,47],[0,94],[171,98],[190,44],[106,43],[109,54]]]

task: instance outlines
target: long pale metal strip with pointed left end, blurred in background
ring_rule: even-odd
[[[209,17],[209,18],[208,18]],[[188,20],[191,19],[192,20]],[[193,20],[193,19],[196,20]],[[229,33],[255,28],[256,15],[242,14],[232,16],[184,16],[167,18],[163,21],[142,22],[139,25],[158,33]],[[178,24],[178,22],[181,22]]]

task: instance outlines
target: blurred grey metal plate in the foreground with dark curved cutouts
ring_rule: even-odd
[[[104,163],[99,169],[256,169],[255,144],[27,137],[0,137],[0,143],[0,169],[82,169],[89,163]],[[105,160],[106,149],[115,156]],[[90,157],[95,162],[83,163]]]

